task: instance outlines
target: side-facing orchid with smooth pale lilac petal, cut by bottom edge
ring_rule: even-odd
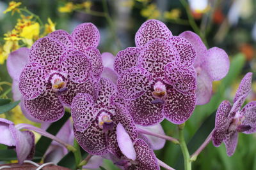
[[[118,146],[124,154],[121,159],[114,161],[124,169],[160,169],[156,155],[143,139],[132,141],[121,123],[116,127]]]

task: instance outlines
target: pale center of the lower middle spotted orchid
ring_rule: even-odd
[[[98,117],[98,125],[104,132],[112,131],[114,127],[113,120],[111,120],[111,113],[102,110]]]

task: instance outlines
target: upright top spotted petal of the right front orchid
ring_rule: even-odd
[[[140,53],[138,66],[147,69],[154,79],[163,80],[164,66],[172,61],[180,61],[175,46],[163,39],[152,39]]]

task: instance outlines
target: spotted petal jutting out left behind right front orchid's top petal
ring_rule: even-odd
[[[141,48],[128,47],[116,54],[114,69],[118,74],[124,73],[125,70],[137,65]]]

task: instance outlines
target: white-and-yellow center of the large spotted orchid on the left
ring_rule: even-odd
[[[53,73],[50,78],[49,81],[52,85],[52,90],[54,92],[63,92],[64,90],[66,90],[66,86],[67,83],[64,81],[64,76],[61,75],[60,73]]]

